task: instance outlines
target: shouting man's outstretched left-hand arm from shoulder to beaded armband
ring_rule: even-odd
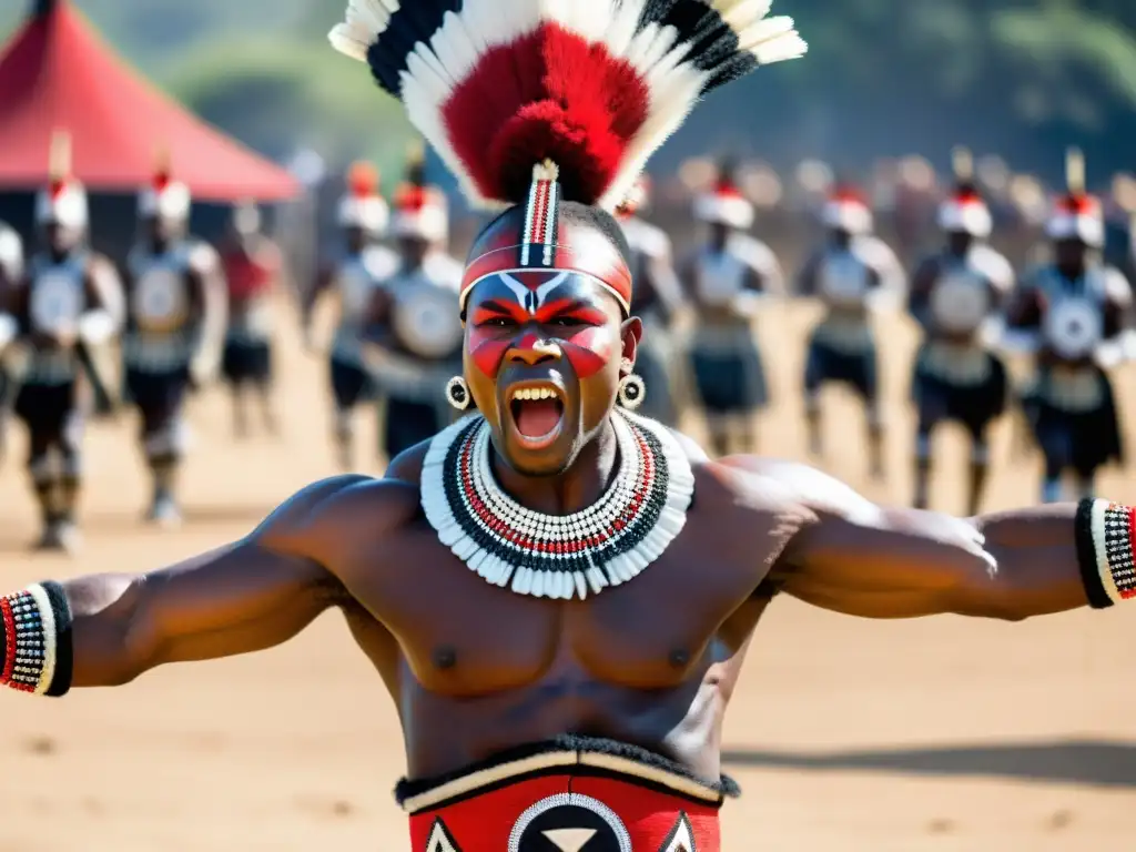
[[[350,601],[312,558],[315,520],[366,477],[311,485],[245,538],[162,570],[42,584],[0,599],[0,685],[62,694],[157,666],[260,651]],[[50,628],[50,629],[49,629]],[[47,653],[36,655],[44,646]]]

